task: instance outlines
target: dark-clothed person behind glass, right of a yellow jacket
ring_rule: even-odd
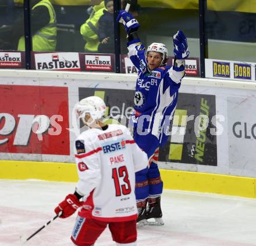
[[[113,0],[105,0],[106,10],[103,10],[103,15],[99,18],[99,53],[115,53],[114,46],[114,5]]]

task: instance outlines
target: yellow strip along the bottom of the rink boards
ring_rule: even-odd
[[[161,170],[163,188],[256,198],[255,178]],[[0,161],[0,179],[77,182],[76,165],[58,162]]]

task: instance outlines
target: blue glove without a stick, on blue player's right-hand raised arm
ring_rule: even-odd
[[[182,31],[178,31],[173,36],[173,53],[175,59],[186,59],[189,56],[189,47],[187,46],[187,38]]]

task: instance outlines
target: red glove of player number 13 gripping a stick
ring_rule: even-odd
[[[83,205],[83,202],[79,201],[74,194],[69,194],[66,196],[65,200],[54,209],[54,212],[59,214],[59,212],[62,211],[59,218],[64,219],[73,215],[74,212],[76,212],[76,209],[81,207],[81,205]]]

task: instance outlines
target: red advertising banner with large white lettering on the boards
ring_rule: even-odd
[[[0,85],[0,153],[69,155],[66,87]]]

